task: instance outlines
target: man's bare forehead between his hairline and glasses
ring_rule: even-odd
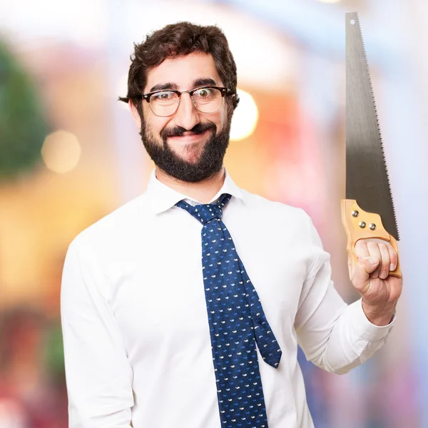
[[[195,52],[186,56],[167,58],[161,65],[148,71],[144,92],[163,83],[175,83],[178,89],[192,89],[193,82],[201,78],[212,78],[218,86],[223,85],[215,68],[211,54]]]

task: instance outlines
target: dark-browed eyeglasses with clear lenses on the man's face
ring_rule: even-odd
[[[190,91],[154,91],[145,93],[142,98],[149,104],[151,111],[156,116],[172,116],[180,106],[180,99],[183,93],[188,93],[192,98],[193,106],[201,113],[215,113],[223,104],[225,95],[232,95],[227,88],[219,86],[203,86]]]

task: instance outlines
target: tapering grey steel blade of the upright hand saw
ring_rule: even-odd
[[[346,198],[399,239],[372,81],[357,13],[346,19]]]

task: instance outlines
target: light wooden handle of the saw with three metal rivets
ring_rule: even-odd
[[[389,242],[394,250],[397,251],[397,240],[392,235],[389,235],[382,225],[382,220],[379,214],[366,213],[358,206],[355,199],[342,199],[342,224],[347,235],[347,252],[351,259],[351,272],[354,272],[357,263],[355,255],[355,244],[363,238],[379,238]],[[402,277],[402,272],[399,267],[393,271],[389,271],[389,275]]]

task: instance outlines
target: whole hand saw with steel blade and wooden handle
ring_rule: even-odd
[[[380,238],[398,253],[399,235],[358,14],[345,14],[345,20],[346,199],[342,199],[342,223],[353,272],[357,240]],[[389,275],[402,277],[399,263]]]

